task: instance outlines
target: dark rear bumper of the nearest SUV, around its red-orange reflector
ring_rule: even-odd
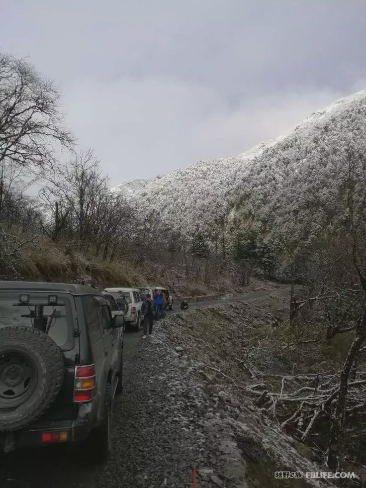
[[[16,432],[0,432],[0,451],[11,452],[16,449],[46,446],[49,444],[67,444],[80,442],[92,431],[92,424],[89,420],[76,419],[74,421],[49,421],[32,425],[28,429]],[[67,432],[67,441],[63,442],[42,442],[42,432]]]

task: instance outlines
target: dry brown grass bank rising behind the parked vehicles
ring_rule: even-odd
[[[24,239],[16,228],[13,234]],[[27,235],[27,238],[29,236]],[[73,281],[84,279],[99,287],[167,286],[174,296],[201,296],[237,291],[230,280],[219,277],[209,285],[202,281],[190,281],[178,276],[176,270],[164,263],[147,263],[134,266],[128,261],[103,261],[90,246],[86,253],[80,252],[77,242],[52,242],[46,235],[37,236],[36,244],[27,244],[17,255],[17,279],[36,281]]]

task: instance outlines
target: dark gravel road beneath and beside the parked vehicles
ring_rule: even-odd
[[[192,308],[210,305],[197,303]],[[198,467],[200,488],[248,486],[242,453],[222,421],[226,414],[220,399],[206,392],[197,364],[173,349],[164,327],[163,321],[157,322],[147,340],[141,332],[126,334],[125,387],[115,402],[110,461],[82,465],[63,446],[0,454],[0,487],[188,488],[192,466]]]

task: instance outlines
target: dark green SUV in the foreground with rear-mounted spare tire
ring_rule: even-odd
[[[55,443],[105,461],[124,316],[80,284],[0,281],[0,449]]]

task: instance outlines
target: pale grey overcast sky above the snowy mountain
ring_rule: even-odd
[[[0,0],[113,184],[236,155],[366,88],[363,0]]]

